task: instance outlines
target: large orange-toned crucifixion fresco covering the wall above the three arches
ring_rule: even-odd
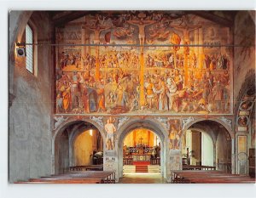
[[[232,113],[231,35],[194,14],[88,12],[56,29],[56,113]]]

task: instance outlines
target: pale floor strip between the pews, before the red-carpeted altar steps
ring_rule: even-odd
[[[161,173],[124,173],[119,184],[165,184],[166,179]]]

